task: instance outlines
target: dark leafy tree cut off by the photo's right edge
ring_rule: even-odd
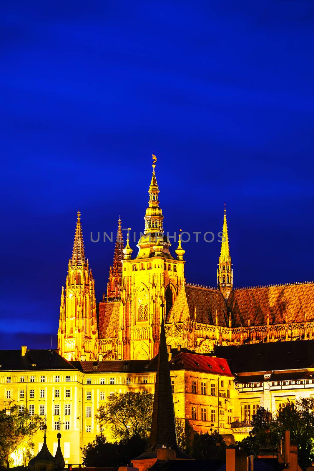
[[[280,438],[290,430],[290,439],[298,445],[298,462],[307,469],[314,461],[314,398],[288,401],[275,417],[274,432]]]

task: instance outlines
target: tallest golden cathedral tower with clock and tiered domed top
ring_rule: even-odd
[[[153,155],[145,228],[137,243],[137,256],[131,258],[129,235],[123,249],[118,332],[118,354],[123,359],[148,359],[158,354],[161,303],[165,304],[163,314],[167,322],[167,314],[184,283],[184,251],[179,250],[177,259],[169,252],[171,244],[163,230],[155,168],[156,157]]]

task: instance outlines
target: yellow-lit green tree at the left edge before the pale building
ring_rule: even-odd
[[[41,418],[39,415],[31,415],[24,409],[17,414],[17,406],[11,407],[11,414],[6,410],[0,411],[0,464],[10,467],[10,455],[23,443],[27,443],[27,457],[31,458],[31,450],[34,449],[32,437],[39,429]]]

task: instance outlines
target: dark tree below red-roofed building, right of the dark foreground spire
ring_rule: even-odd
[[[226,445],[222,435],[217,430],[209,435],[208,432],[200,435],[194,433],[192,444],[192,457],[197,460],[225,461]]]

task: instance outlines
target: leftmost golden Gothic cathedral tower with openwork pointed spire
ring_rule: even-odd
[[[77,213],[72,259],[62,287],[58,349],[66,360],[92,360],[97,354],[95,281],[85,259],[81,213]]]

